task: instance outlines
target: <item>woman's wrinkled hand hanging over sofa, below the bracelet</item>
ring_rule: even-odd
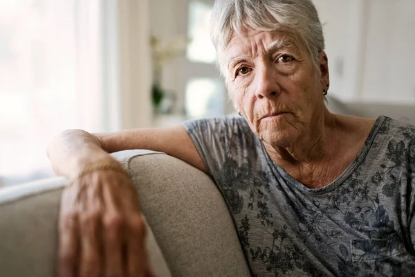
[[[127,175],[95,171],[64,189],[59,276],[154,276],[137,193]]]

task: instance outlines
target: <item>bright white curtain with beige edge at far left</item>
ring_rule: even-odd
[[[0,1],[0,187],[52,176],[64,129],[151,125],[148,0]]]

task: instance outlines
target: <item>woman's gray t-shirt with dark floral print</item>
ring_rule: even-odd
[[[415,276],[415,126],[380,116],[338,179],[310,189],[241,117],[184,123],[254,276]]]

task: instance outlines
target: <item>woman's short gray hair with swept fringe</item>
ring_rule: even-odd
[[[234,33],[242,33],[244,29],[282,28],[302,39],[317,66],[324,51],[324,37],[312,0],[214,0],[210,36],[218,53],[221,74],[224,75],[221,54]]]

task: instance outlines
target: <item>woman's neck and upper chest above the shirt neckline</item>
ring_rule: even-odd
[[[376,120],[329,111],[288,147],[264,143],[275,163],[308,188],[322,188],[338,178],[362,149]]]

